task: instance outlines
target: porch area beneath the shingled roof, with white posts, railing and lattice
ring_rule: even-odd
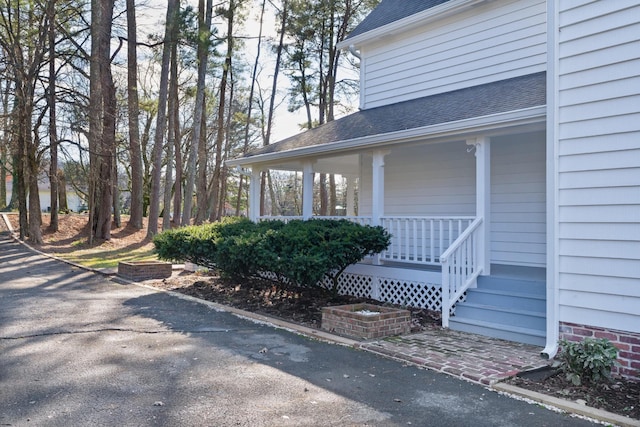
[[[299,215],[261,216],[250,210],[250,216],[255,221],[321,218],[314,178],[344,177],[344,215],[324,217],[380,225],[392,242],[350,267],[340,291],[441,311],[442,324],[449,327],[457,304],[493,269],[498,268],[496,276],[508,272],[527,279],[532,271],[544,276],[543,143],[542,131],[527,129],[254,164],[251,182],[260,182],[264,170],[297,171],[302,202]],[[250,205],[260,206],[258,188],[252,186],[250,193]]]

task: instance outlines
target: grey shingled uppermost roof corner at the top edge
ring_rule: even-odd
[[[349,33],[346,40],[448,1],[450,0],[382,0],[382,2]]]

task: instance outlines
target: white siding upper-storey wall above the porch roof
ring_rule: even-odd
[[[361,108],[545,71],[545,4],[485,2],[362,46]]]

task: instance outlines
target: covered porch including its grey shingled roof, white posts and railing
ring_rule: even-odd
[[[438,310],[454,327],[460,302],[496,265],[546,265],[544,81],[524,76],[363,110],[228,164],[250,176],[254,221],[319,217],[315,177],[342,177],[339,218],[383,226],[392,243],[351,266],[341,292]],[[273,170],[296,174],[293,215],[260,214],[261,174]],[[539,303],[544,323],[544,296]]]

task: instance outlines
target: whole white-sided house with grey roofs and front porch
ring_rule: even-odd
[[[341,47],[360,111],[229,161],[250,217],[260,171],[303,173],[304,218],[313,174],[340,174],[348,217],[393,235],[343,292],[549,357],[606,337],[637,377],[640,4],[382,0]]]

